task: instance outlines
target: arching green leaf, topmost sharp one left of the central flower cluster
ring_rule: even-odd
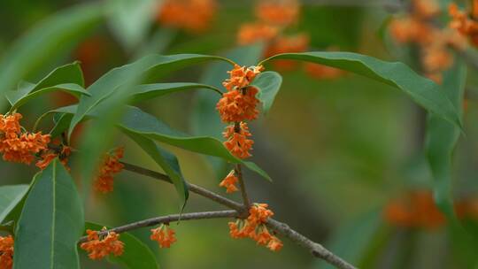
[[[94,111],[98,104],[104,101],[104,99],[111,97],[122,86],[137,81],[145,76],[146,73],[155,73],[161,70],[171,71],[176,68],[194,65],[206,60],[228,61],[226,58],[199,54],[177,54],[169,56],[150,55],[141,58],[132,64],[112,69],[89,86],[88,91],[91,96],[81,96],[78,110],[74,114],[70,124],[68,136],[71,135],[73,128],[81,121],[81,119],[83,119],[90,111]]]

